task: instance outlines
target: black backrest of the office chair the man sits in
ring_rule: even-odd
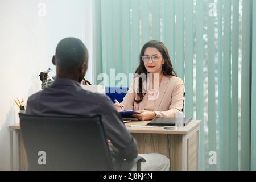
[[[100,116],[19,117],[28,170],[113,170]]]

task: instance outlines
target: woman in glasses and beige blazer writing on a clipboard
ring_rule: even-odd
[[[141,114],[133,116],[141,121],[175,117],[183,107],[183,90],[183,81],[172,68],[166,46],[152,40],[142,47],[135,78],[121,104],[125,110],[140,111]]]

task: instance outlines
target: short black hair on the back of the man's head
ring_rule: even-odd
[[[88,50],[84,43],[77,38],[64,38],[56,48],[56,64],[65,72],[72,72],[86,61],[88,63]]]

